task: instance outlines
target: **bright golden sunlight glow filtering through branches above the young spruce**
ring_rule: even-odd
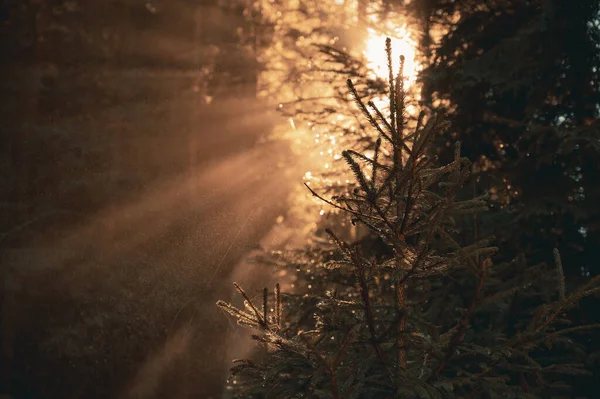
[[[347,49],[346,47],[343,49],[353,57],[360,58],[361,55],[364,57],[367,67],[372,70],[370,78],[379,77],[386,80],[388,67],[385,42],[386,38],[390,37],[394,74],[399,70],[400,56],[403,55],[405,58],[404,86],[407,89],[409,115],[416,112],[412,104],[420,97],[418,85],[413,85],[420,69],[416,60],[416,40],[411,36],[411,31],[406,25],[396,25],[404,22],[402,15],[381,17],[382,14],[379,12],[381,10],[377,6],[380,2],[364,2],[365,10],[359,7],[357,0],[308,1],[307,11],[310,12],[306,14],[283,12],[285,9],[299,7],[298,0],[258,0],[258,2],[261,4],[263,15],[271,16],[270,22],[275,25],[272,42],[261,52],[261,61],[268,65],[268,69],[265,69],[259,79],[261,96],[268,98],[269,102],[272,101],[273,105],[282,110],[301,98],[317,99],[314,102],[304,101],[302,103],[304,112],[297,116],[292,114],[295,108],[290,106],[286,113],[287,123],[279,126],[276,134],[291,139],[294,152],[301,154],[303,162],[306,162],[304,166],[306,169],[302,171],[305,184],[317,191],[336,182],[338,185],[342,185],[342,182],[350,184],[354,181],[354,177],[345,162],[340,162],[343,161],[342,150],[352,143],[357,134],[365,137],[368,132],[363,131],[357,123],[353,113],[355,110],[348,111],[349,107],[341,104],[338,98],[338,90],[345,90],[346,76],[331,73],[329,60],[321,55],[315,56],[314,59],[307,59],[304,56],[304,54],[311,54],[314,50],[312,45],[315,43],[336,47],[338,38],[332,38],[324,32],[311,34],[309,37],[300,36],[292,43],[286,32],[298,26],[302,26],[300,31],[322,32],[321,27],[324,24],[336,25],[340,21],[344,21],[345,29],[354,27],[362,31],[365,25],[368,25],[370,27],[367,27],[364,32],[366,37],[362,34],[360,37],[346,37],[347,41],[342,40],[342,42]],[[367,21],[364,20],[365,17]],[[353,42],[352,39],[356,41]],[[294,80],[289,80],[288,71],[296,69],[303,71],[299,77],[300,85]],[[327,99],[329,97],[331,100]],[[373,101],[384,115],[389,113],[387,93],[372,96],[368,100]],[[340,112],[321,117],[318,113],[324,107],[339,109]],[[309,120],[307,115],[312,112],[319,115],[318,120]],[[289,117],[290,115],[293,117]],[[347,133],[352,134],[346,136]],[[369,155],[373,156],[372,153]],[[332,211],[332,208],[323,207],[323,203],[310,195],[304,187],[299,187],[298,190],[298,194],[302,195],[294,195],[296,203],[294,209],[298,211],[295,218],[306,221],[307,226],[309,223],[316,226],[313,222],[316,222],[319,216]],[[307,215],[304,210],[309,209],[309,206],[311,211],[315,210],[315,212]]]

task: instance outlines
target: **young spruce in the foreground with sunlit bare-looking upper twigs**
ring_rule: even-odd
[[[387,56],[387,118],[348,80],[378,135],[373,156],[343,153],[356,183],[342,195],[326,199],[309,187],[369,233],[345,242],[337,226],[318,246],[276,254],[298,273],[290,294],[277,285],[257,302],[235,284],[244,307],[218,302],[268,349],[260,362],[236,361],[231,387],[267,398],[538,398],[566,390],[560,375],[585,372],[570,336],[597,326],[568,326],[565,312],[597,293],[600,278],[569,290],[558,251],[555,270],[540,279],[534,268],[494,265],[492,237],[458,243],[457,218],[484,210],[487,199],[461,196],[470,163],[460,144],[447,165],[427,155],[449,127],[441,114],[425,122],[421,113],[407,131],[404,79],[402,70],[392,74],[389,41]],[[506,316],[516,294],[539,303],[514,326]]]

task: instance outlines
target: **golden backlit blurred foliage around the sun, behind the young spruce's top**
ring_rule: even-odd
[[[275,137],[290,140],[302,154],[304,180],[313,187],[335,193],[352,181],[342,158],[349,143],[357,150],[374,150],[376,136],[358,117],[339,74],[360,82],[356,90],[365,102],[372,100],[387,109],[387,59],[382,45],[386,36],[392,36],[405,56],[406,88],[416,79],[414,39],[406,24],[391,22],[404,18],[384,17],[391,11],[383,3],[263,0],[246,11],[254,20],[254,45],[264,67],[259,94],[285,118]],[[392,63],[398,67],[399,58]],[[408,111],[414,114],[418,90],[410,96]],[[296,196],[297,208],[304,211],[302,198]],[[310,207],[309,215],[335,211],[317,204],[316,210]]]

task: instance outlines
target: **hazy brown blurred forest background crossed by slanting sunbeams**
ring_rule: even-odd
[[[219,397],[215,302],[288,186],[243,10],[2,1],[0,393]]]

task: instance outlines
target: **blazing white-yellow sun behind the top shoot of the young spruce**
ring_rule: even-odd
[[[368,37],[366,48],[363,51],[367,59],[367,65],[380,78],[387,79],[388,66],[387,55],[385,52],[386,37],[392,40],[392,67],[394,73],[400,68],[400,56],[404,56],[404,77],[405,88],[409,88],[417,78],[419,65],[416,57],[416,42],[410,37],[406,26],[389,30],[389,36],[376,32],[373,28],[368,28]]]

